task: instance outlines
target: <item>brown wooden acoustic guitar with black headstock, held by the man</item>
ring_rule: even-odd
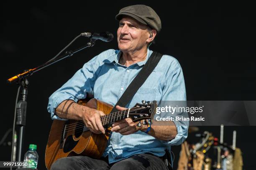
[[[48,169],[61,157],[85,155],[100,158],[107,145],[111,125],[114,122],[125,118],[131,118],[133,122],[149,119],[150,122],[154,118],[157,107],[156,101],[143,101],[143,104],[137,103],[132,108],[110,113],[113,106],[97,99],[89,101],[82,99],[77,103],[105,113],[100,119],[106,132],[105,134],[92,133],[83,121],[54,120],[45,152],[45,163]]]

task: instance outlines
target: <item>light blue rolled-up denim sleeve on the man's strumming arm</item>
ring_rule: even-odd
[[[92,64],[92,60],[85,63],[82,69],[79,69],[67,83],[49,97],[47,109],[51,114],[51,119],[66,120],[55,114],[56,107],[58,107],[62,101],[73,100],[77,102],[79,99],[86,98],[86,93],[93,94],[95,71],[93,70]]]

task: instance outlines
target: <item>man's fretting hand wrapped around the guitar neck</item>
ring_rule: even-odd
[[[126,108],[116,106],[116,109],[118,110],[125,110]],[[119,132],[123,135],[133,134],[137,132],[138,130],[141,130],[141,127],[137,127],[138,122],[133,122],[131,118],[126,118],[123,120],[120,120],[118,122],[115,122],[112,124],[111,131],[112,132]]]

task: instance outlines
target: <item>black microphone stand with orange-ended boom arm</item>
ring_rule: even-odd
[[[17,84],[21,87],[21,96],[22,100],[18,101],[17,104],[17,121],[16,124],[20,126],[20,134],[19,134],[19,143],[18,143],[18,162],[21,162],[21,153],[22,153],[22,148],[23,148],[23,139],[24,139],[24,131],[25,131],[25,126],[26,126],[26,108],[27,108],[27,95],[28,95],[28,77],[32,76],[33,73],[46,68],[47,66],[50,66],[53,63],[56,63],[58,61],[61,61],[64,58],[67,58],[69,56],[73,56],[74,53],[77,53],[79,51],[82,51],[84,48],[87,47],[92,47],[95,45],[95,39],[90,38],[90,42],[87,43],[87,45],[82,46],[80,48],[75,49],[74,51],[66,51],[64,55],[61,55],[57,58],[54,58],[53,60],[50,60],[46,63],[44,63],[41,66],[38,66],[34,69],[29,69],[25,70],[23,73],[18,74],[16,76],[11,77],[10,79],[7,80],[8,83],[13,83],[15,81],[18,81]],[[12,148],[13,149],[13,148]],[[15,161],[15,160],[13,160]],[[23,168],[20,168],[18,166],[17,170],[22,170]],[[25,169],[24,169],[25,170]]]

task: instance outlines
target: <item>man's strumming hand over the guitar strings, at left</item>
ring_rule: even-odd
[[[105,115],[103,112],[90,107],[82,108],[82,112],[84,124],[90,129],[91,132],[96,134],[105,134],[105,129],[100,121],[100,116]]]

